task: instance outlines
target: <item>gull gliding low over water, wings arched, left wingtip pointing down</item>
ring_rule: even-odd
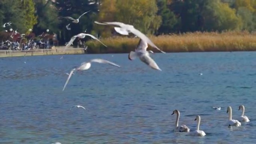
[[[65,85],[64,85],[62,91],[64,91],[64,89],[65,89],[65,87],[67,86],[67,83],[68,83],[70,77],[73,75],[74,71],[76,71],[76,70],[77,70],[77,71],[88,70],[88,69],[91,67],[91,62],[97,62],[97,63],[103,63],[103,64],[110,64],[110,65],[113,65],[113,66],[115,66],[115,67],[120,67],[119,65],[117,65],[117,64],[115,64],[115,63],[113,63],[113,62],[107,61],[107,60],[105,60],[105,59],[91,59],[90,61],[83,62],[79,67],[73,68],[73,69],[70,71],[70,73],[69,73],[69,75],[68,75],[68,79],[67,79],[67,81],[66,81],[66,83],[65,83]]]

